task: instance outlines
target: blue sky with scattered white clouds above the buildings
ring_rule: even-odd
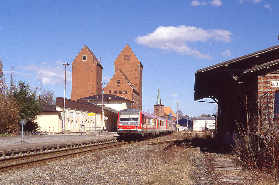
[[[143,110],[156,103],[184,115],[212,114],[215,104],[194,101],[196,70],[279,44],[279,1],[1,1],[0,57],[6,81],[64,95],[64,65],[84,45],[101,57],[103,82],[128,43],[143,64]],[[66,98],[71,98],[71,65]],[[210,100],[209,100],[210,101]],[[177,104],[175,104],[176,111]]]

